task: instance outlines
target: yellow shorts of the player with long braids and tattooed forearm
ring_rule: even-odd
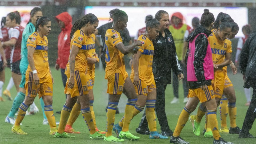
[[[70,94],[71,98],[81,96],[81,95],[86,95],[89,94],[88,87],[87,87],[87,79],[86,79],[86,74],[84,71],[75,71],[75,85],[73,89],[68,88],[68,81],[70,78],[70,73],[67,73],[67,82],[66,82],[66,87],[64,90],[65,94]]]

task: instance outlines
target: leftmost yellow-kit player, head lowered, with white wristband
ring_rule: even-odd
[[[22,122],[27,109],[34,102],[37,93],[45,103],[44,111],[50,125],[50,134],[57,131],[53,114],[53,77],[48,62],[48,39],[51,21],[47,17],[37,19],[35,32],[27,40],[29,66],[26,71],[26,98],[19,106],[17,119],[11,131],[16,134],[27,134],[21,130]]]

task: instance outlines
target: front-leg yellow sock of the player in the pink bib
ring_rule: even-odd
[[[221,136],[219,135],[219,127],[216,114],[217,112],[215,110],[207,110],[208,125],[211,127],[214,139],[219,140]]]

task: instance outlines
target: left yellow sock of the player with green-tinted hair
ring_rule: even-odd
[[[112,135],[112,130],[115,122],[115,111],[117,110],[118,102],[109,102],[107,106],[107,130],[106,137]]]

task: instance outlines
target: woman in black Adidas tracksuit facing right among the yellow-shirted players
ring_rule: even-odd
[[[160,22],[161,26],[159,36],[153,40],[155,51],[152,68],[157,87],[155,112],[161,126],[162,135],[171,136],[173,132],[170,130],[165,113],[165,89],[167,84],[171,84],[171,69],[180,79],[183,78],[183,74],[178,62],[173,36],[167,29],[169,14],[160,10],[156,13],[155,19]],[[149,134],[147,131],[147,121],[144,113],[136,132]]]

